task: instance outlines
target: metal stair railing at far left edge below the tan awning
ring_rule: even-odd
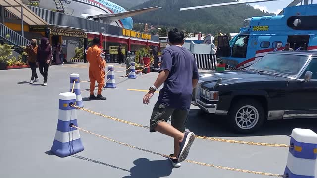
[[[7,36],[9,37],[7,38]],[[31,43],[28,39],[22,37],[22,35],[16,33],[2,23],[0,23],[0,37],[19,47],[26,46]]]

